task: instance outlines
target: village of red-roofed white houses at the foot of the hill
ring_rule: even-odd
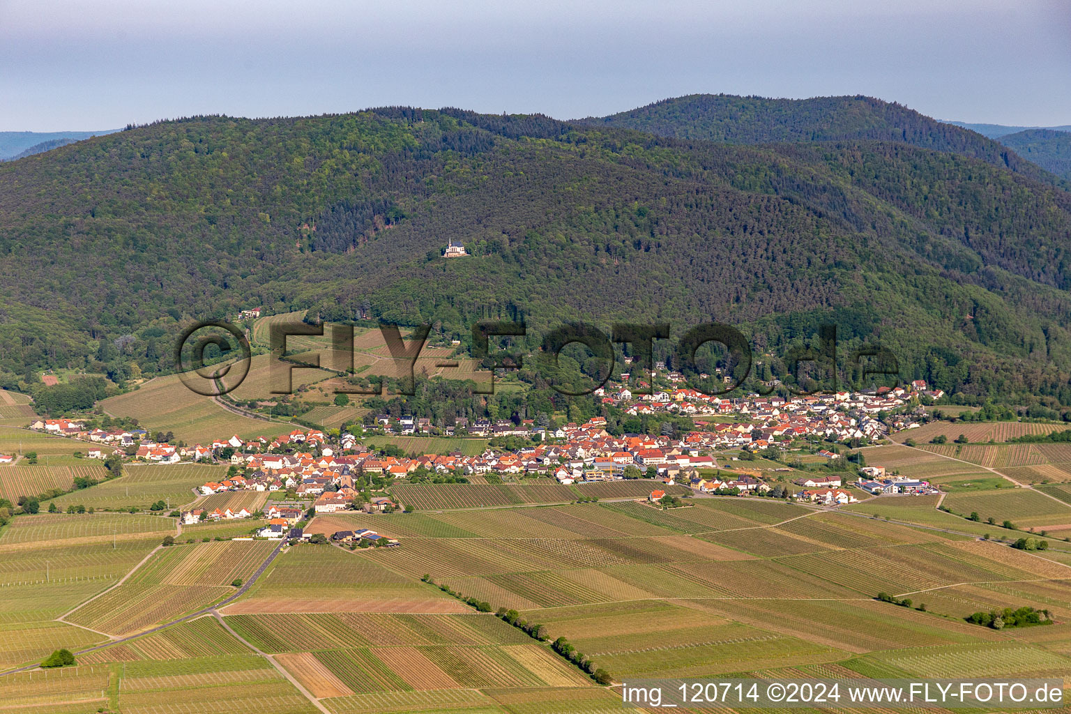
[[[674,381],[676,375],[668,375]],[[791,485],[771,484],[770,474],[748,468],[761,455],[785,454],[811,446],[810,453],[830,462],[842,457],[824,442],[865,444],[886,438],[890,425],[918,426],[905,407],[920,396],[937,398],[922,381],[878,394],[840,392],[795,398],[750,395],[743,398],[709,397],[690,389],[654,391],[634,396],[628,389],[600,389],[597,396],[630,415],[681,414],[696,427],[674,438],[606,430],[606,420],[591,417],[583,424],[540,427],[533,420],[468,420],[446,425],[447,434],[471,437],[527,437],[512,450],[486,449],[479,455],[461,453],[387,455],[365,447],[349,431],[331,437],[318,429],[295,429],[272,439],[243,440],[221,437],[207,444],[174,445],[155,442],[144,429],[90,429],[69,419],[39,420],[31,428],[80,439],[92,444],[88,458],[122,458],[148,464],[182,462],[229,465],[228,477],[200,485],[200,496],[227,491],[267,491],[277,497],[263,513],[244,507],[194,508],[183,513],[184,523],[265,517],[260,537],[307,540],[297,525],[311,514],[359,510],[364,513],[404,511],[386,488],[407,480],[427,477],[492,476],[494,478],[549,478],[562,485],[647,478],[666,486],[681,485],[700,496],[774,496],[836,506],[857,501],[849,486],[869,496],[931,493],[924,481],[887,475],[880,467],[861,467],[853,483],[842,473],[818,473],[796,478]],[[429,420],[376,415],[369,428],[398,437],[427,434]],[[361,432],[361,429],[353,429]],[[791,450],[791,451],[790,451]],[[780,468],[789,472],[793,469]],[[781,478],[779,478],[781,481]],[[797,488],[791,488],[795,486]],[[858,491],[857,491],[858,492]],[[661,502],[665,491],[654,488],[648,501]],[[291,499],[291,501],[287,501]],[[307,514],[306,514],[307,512]],[[375,536],[375,537],[369,537]],[[377,533],[343,533],[337,541],[376,543]],[[396,542],[384,542],[396,545]],[[381,544],[379,544],[381,545]]]

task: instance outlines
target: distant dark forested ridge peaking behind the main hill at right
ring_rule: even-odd
[[[692,94],[609,117],[582,119],[579,123],[728,143],[903,141],[964,154],[1047,180],[1044,171],[993,139],[871,96],[771,100]]]

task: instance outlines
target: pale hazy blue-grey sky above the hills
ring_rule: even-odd
[[[1067,0],[0,0],[0,131],[697,92],[1071,124]]]

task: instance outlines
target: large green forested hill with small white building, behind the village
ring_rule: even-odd
[[[449,240],[470,257],[446,259]],[[905,378],[1071,405],[1071,194],[961,153],[739,146],[540,116],[201,117],[0,165],[0,383],[171,368],[240,307],[606,329],[718,319],[776,355],[823,321]]]

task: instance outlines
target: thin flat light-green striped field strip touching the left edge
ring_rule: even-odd
[[[52,514],[19,516],[0,535],[0,545],[34,541],[72,541],[73,538],[139,538],[141,534],[174,535],[175,519],[141,514]]]

